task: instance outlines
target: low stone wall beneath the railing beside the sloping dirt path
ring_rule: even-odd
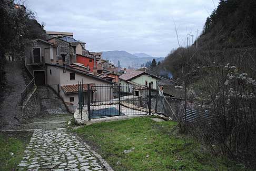
[[[40,114],[41,105],[40,105],[40,97],[37,92],[37,88],[33,90],[31,94],[29,94],[27,100],[21,107],[22,112],[19,116],[17,116],[19,122],[25,123],[27,120],[37,116]]]

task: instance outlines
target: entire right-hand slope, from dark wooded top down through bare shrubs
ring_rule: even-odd
[[[254,0],[221,0],[206,19],[199,47],[180,47],[157,67],[159,72],[163,68],[172,72],[186,91],[185,109],[190,103],[211,118],[210,124],[180,122],[182,130],[213,153],[252,170],[256,168],[255,7]]]

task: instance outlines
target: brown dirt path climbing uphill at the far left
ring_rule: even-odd
[[[0,92],[0,129],[15,129],[20,125],[15,116],[21,112],[21,93],[26,83],[21,62],[7,62],[4,70],[6,83]]]

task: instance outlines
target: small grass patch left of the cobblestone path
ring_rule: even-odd
[[[14,170],[23,158],[31,133],[0,133],[0,170]],[[12,155],[13,154],[13,155]]]

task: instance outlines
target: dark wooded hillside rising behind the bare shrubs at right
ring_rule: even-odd
[[[240,65],[236,59],[256,43],[255,7],[256,1],[253,0],[221,0],[218,8],[206,19],[198,48],[193,44],[170,52],[159,71],[167,68],[174,78],[180,78],[196,68],[196,63],[202,64],[213,56],[219,56],[216,60],[222,63]]]

